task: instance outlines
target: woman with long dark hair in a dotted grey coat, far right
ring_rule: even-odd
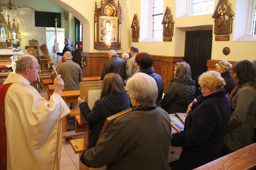
[[[225,154],[253,143],[256,113],[256,68],[249,60],[238,61],[232,68],[237,86],[229,95],[231,117],[225,131]]]

